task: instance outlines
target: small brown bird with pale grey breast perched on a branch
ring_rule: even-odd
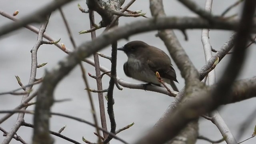
[[[126,76],[160,86],[161,83],[156,77],[156,72],[159,72],[164,82],[178,91],[173,82],[178,82],[176,72],[172,67],[171,59],[164,51],[142,41],[128,42],[118,50],[124,51],[128,56],[127,62],[124,63]],[[145,89],[148,84],[144,84]]]

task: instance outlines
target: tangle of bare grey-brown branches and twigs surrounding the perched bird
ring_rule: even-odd
[[[155,126],[147,133],[143,134],[143,136],[136,140],[134,144],[164,144],[166,142],[168,142],[168,144],[195,144],[198,139],[203,139],[212,143],[225,141],[227,144],[237,144],[237,141],[240,141],[233,136],[231,130],[216,109],[221,105],[240,102],[256,96],[256,76],[244,80],[236,80],[244,65],[246,50],[250,45],[255,43],[256,36],[252,35],[256,33],[256,23],[254,20],[256,1],[239,0],[228,7],[221,15],[213,15],[211,13],[212,0],[206,0],[205,8],[201,8],[192,0],[178,0],[186,8],[198,15],[197,17],[179,17],[166,16],[162,0],[150,0],[152,17],[149,18],[145,16],[146,13],[141,10],[128,10],[136,0],[130,0],[126,6],[123,6],[125,0],[87,0],[86,4],[88,10],[82,8],[80,4],[78,4],[78,9],[86,16],[88,15],[90,28],[88,28],[88,30],[81,30],[79,34],[91,33],[92,40],[86,40],[88,42],[83,42],[79,46],[77,46],[74,36],[72,35],[68,23],[69,18],[66,18],[64,10],[62,10],[62,6],[71,1],[72,0],[54,0],[21,19],[14,18],[14,16],[18,15],[18,10],[14,12],[13,16],[0,10],[2,16],[15,21],[0,27],[0,38],[3,38],[6,34],[22,27],[38,34],[36,43],[30,51],[32,62],[28,84],[22,84],[21,78],[16,76],[16,80],[21,88],[10,90],[8,92],[0,92],[0,96],[5,94],[22,95],[21,103],[16,106],[16,108],[13,110],[0,110],[0,113],[7,113],[3,117],[0,117],[0,124],[8,120],[14,113],[18,113],[18,119],[9,131],[4,130],[4,128],[0,126],[0,130],[5,136],[2,144],[9,144],[12,139],[27,144],[28,142],[24,141],[24,139],[17,134],[17,131],[21,126],[33,128],[33,144],[54,143],[54,138],[50,136],[50,134],[63,138],[69,142],[80,144],[78,140],[60,134],[65,130],[66,125],[60,128],[58,132],[50,130],[50,118],[52,115],[71,118],[72,120],[95,127],[96,132],[94,132],[94,134],[97,136],[96,143],[91,142],[84,137],[81,138],[88,144],[109,144],[112,142],[113,138],[124,144],[131,143],[126,142],[116,135],[119,132],[127,130],[133,126],[134,123],[127,124],[123,128],[116,130],[117,120],[114,115],[115,87],[118,88],[118,90],[122,90],[123,87],[149,90],[175,97],[174,102],[170,104],[166,112],[164,112],[162,117],[156,122]],[[228,11],[240,4],[243,4],[242,16],[238,17],[237,14],[226,16]],[[63,43],[59,44],[60,39],[55,40],[45,32],[51,13],[57,9],[64,21],[68,37],[74,50],[70,50]],[[99,25],[95,24],[94,12],[97,12],[102,17]],[[120,18],[120,16],[143,16],[146,19],[130,22],[124,26],[118,26],[118,18]],[[34,22],[42,23],[40,29],[29,25]],[[100,28],[105,28],[104,32],[99,36],[96,36],[96,30]],[[190,60],[190,54],[188,54],[180,44],[173,29],[180,30],[182,34],[184,34],[185,39],[188,39],[186,30],[202,29],[201,40],[206,63],[199,71],[196,69],[192,60]],[[230,30],[235,32],[219,50],[214,50],[209,39],[209,29]],[[134,34],[153,30],[158,31],[157,36],[164,42],[170,56],[178,66],[182,78],[185,80],[184,88],[180,91],[170,90],[164,83],[164,80],[158,71],[156,72],[156,77],[164,87],[130,83],[117,76],[118,40],[128,39]],[[43,38],[46,38],[49,41],[43,40]],[[60,48],[60,50],[68,54],[68,56],[60,60],[58,65],[54,68],[47,70],[42,78],[36,78],[37,69],[42,68],[47,64],[38,64],[38,49],[42,44],[54,44]],[[111,56],[106,56],[98,52],[110,44],[112,48]],[[231,59],[228,62],[224,73],[220,76],[220,80],[215,82],[216,75],[214,70],[216,65],[222,61],[226,54],[229,54],[231,49],[233,50],[232,53],[230,53]],[[215,53],[212,54],[212,52]],[[91,55],[94,56],[94,60],[88,58]],[[108,62],[111,62],[110,70],[100,65],[99,56],[106,58]],[[95,67],[95,76],[86,73],[83,62]],[[51,112],[52,104],[55,102],[66,101],[66,99],[54,100],[54,90],[56,90],[57,84],[59,84],[60,81],[77,65],[80,66],[82,80],[84,82],[85,90],[87,90],[86,95],[88,95],[90,101],[93,122],[88,122],[88,120],[67,114]],[[87,74],[90,78],[96,80],[96,90],[90,88]],[[110,81],[108,88],[103,89],[102,78],[105,75],[110,76]],[[203,79],[204,82],[201,82]],[[41,85],[37,90],[32,90],[32,87],[35,84]],[[95,108],[92,92],[98,93],[101,125],[98,123],[99,120],[96,115],[98,112]],[[105,97],[103,96],[104,92],[107,92]],[[36,102],[31,102],[35,97]],[[104,105],[104,101],[107,102],[107,106]],[[31,105],[35,105],[34,111],[26,110],[26,108]],[[105,108],[107,108],[110,120],[110,130],[107,128]],[[27,113],[33,114],[33,124],[25,122],[24,115]],[[223,136],[220,140],[213,141],[211,140],[212,138],[199,136],[198,119],[200,116],[212,121],[212,123],[217,126]],[[252,119],[253,118],[249,118],[248,123],[250,123]],[[253,138],[255,135],[256,132],[254,131],[250,138]]]

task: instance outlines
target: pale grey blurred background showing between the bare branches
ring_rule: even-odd
[[[31,12],[37,10],[38,8],[44,6],[51,0],[0,0],[0,9],[12,14],[15,10],[19,10],[19,14],[16,18],[22,18],[26,14],[30,14]],[[205,0],[195,0],[197,4],[201,7],[204,7]],[[212,13],[214,15],[221,14],[228,6],[233,4],[236,0],[214,0],[212,6]],[[124,3],[127,4],[129,0],[126,0]],[[90,29],[90,21],[88,18],[88,14],[84,14],[78,10],[77,4],[80,4],[84,9],[87,10],[87,5],[85,0],[75,0],[63,7],[64,14],[68,19],[70,24],[74,39],[77,45],[80,45],[82,42],[90,41],[91,35],[81,34],[78,32],[81,30]],[[123,6],[124,6],[123,5]],[[182,4],[177,2],[176,0],[164,0],[164,8],[165,12],[168,16],[196,16],[185,8]],[[146,12],[146,16],[151,17],[150,9],[149,9],[149,1],[148,0],[137,0],[134,2],[132,6],[130,6],[129,10],[142,10]],[[231,10],[227,16],[230,16],[235,13],[239,13],[241,10],[241,6],[234,8]],[[143,17],[131,18],[131,17],[121,17],[119,19],[119,26],[124,26],[132,21],[142,20]],[[98,14],[96,14],[96,24],[100,22],[101,18]],[[8,18],[0,16],[0,26],[4,24],[8,24],[12,22]],[[37,28],[40,28],[41,24],[32,24]],[[103,29],[97,30],[96,34],[100,35]],[[201,42],[201,30],[187,30],[188,41],[184,40],[184,36],[180,31],[175,31],[178,36],[180,43],[186,50],[188,56],[199,70],[205,64],[204,51]],[[46,33],[48,33],[52,38],[56,40],[61,38],[61,43],[64,43],[67,48],[72,49],[72,45],[68,38],[68,34],[66,28],[64,26],[63,20],[60,16],[58,10],[52,13],[50,17],[49,24],[46,29]],[[128,41],[132,40],[142,40],[147,42],[150,45],[156,46],[166,53],[166,47],[164,43],[157,38],[156,31],[147,32],[142,34],[137,34],[135,36],[131,36]],[[218,50],[230,37],[232,32],[230,31],[222,31],[222,30],[210,30],[210,42],[212,47]],[[20,30],[16,30],[0,39],[0,92],[6,92],[10,90],[14,90],[16,88],[20,88],[15,78],[15,75],[19,76],[21,82],[26,85],[28,83],[30,77],[30,67],[31,67],[31,53],[30,50],[34,46],[37,39],[37,34],[31,32],[26,28],[21,28]],[[127,40],[119,40],[118,46],[123,46],[128,42]],[[255,76],[255,61],[256,57],[254,54],[256,53],[256,46],[252,45],[248,48],[248,55],[244,65],[244,69],[242,73],[238,77],[238,79],[242,78],[250,78]],[[104,50],[100,51],[101,53],[110,56],[111,48],[108,46]],[[64,52],[58,49],[54,45],[42,45],[38,50],[38,64],[42,64],[47,62],[48,64],[42,68],[37,69],[36,78],[41,78],[44,76],[44,71],[51,70],[56,64],[62,60],[65,56],[67,56]],[[91,57],[92,58],[92,57]],[[225,58],[216,66],[216,80],[220,78],[223,73],[223,70],[229,60],[230,56],[225,56]],[[128,78],[123,72],[123,64],[126,62],[127,57],[123,52],[118,52],[118,62],[117,62],[117,75],[128,82],[134,83],[142,83],[137,80],[133,80],[132,78]],[[86,72],[90,72],[95,75],[95,69],[93,66],[89,64],[83,63]],[[104,58],[100,58],[100,64],[109,68],[111,67],[110,61]],[[184,80],[180,76],[180,71],[177,66],[174,64],[174,68],[177,73],[177,79],[179,81],[178,88],[181,89],[184,87]],[[58,84],[55,92],[54,98],[56,100],[71,98],[72,101],[55,103],[52,106],[52,112],[60,112],[65,114],[70,114],[72,116],[84,118],[90,122],[93,122],[90,103],[88,100],[88,96],[86,90],[84,90],[84,82],[82,80],[82,74],[80,68],[77,66],[66,78],[64,78],[60,84]],[[104,76],[103,78],[103,88],[108,88],[109,77]],[[88,77],[90,87],[92,89],[97,89],[96,80]],[[36,90],[38,86],[34,86],[33,89]],[[106,93],[104,93],[105,95]],[[96,107],[96,112],[99,116],[99,108],[98,108],[98,94],[93,93],[94,104]],[[0,97],[0,110],[11,110],[20,104],[22,96],[12,96],[12,95],[4,95]],[[118,136],[129,143],[136,141],[142,135],[144,135],[160,118],[160,116],[164,113],[168,105],[173,101],[174,98],[166,96],[164,94],[159,94],[156,92],[144,91],[144,90],[133,90],[129,88],[124,88],[124,90],[120,91],[116,87],[114,88],[114,114],[117,124],[117,129],[122,128],[128,124],[134,122],[134,126],[120,132]],[[34,101],[34,100],[33,100]],[[220,114],[228,127],[230,128],[232,134],[235,137],[238,135],[238,130],[240,128],[240,124],[244,122],[251,114],[251,112],[255,109],[256,99],[252,98],[249,100],[244,100],[242,102],[237,102],[235,104],[229,104],[226,106],[222,106],[220,108]],[[34,110],[34,106],[28,107],[28,110]],[[106,110],[106,100],[105,100],[105,110]],[[107,112],[106,112],[107,114]],[[1,114],[0,117],[3,117],[4,114]],[[1,124],[1,127],[5,130],[9,131],[12,128],[13,124],[16,122],[18,114],[14,114],[11,118],[6,120]],[[108,122],[108,130],[110,130],[110,123],[108,115],[106,116]],[[95,128],[92,126],[88,126],[86,124],[62,118],[59,116],[52,116],[50,119],[50,130],[58,132],[58,130],[64,126],[67,127],[62,132],[63,135],[68,136],[78,142],[83,143],[82,136],[91,142],[96,142],[97,137],[93,134],[95,132]],[[29,114],[25,115],[25,122],[32,123],[33,117]],[[100,120],[99,120],[100,123]],[[243,134],[242,139],[248,138],[251,136],[256,120],[252,122],[249,129]],[[30,143],[32,138],[32,128],[22,126],[17,134],[21,136],[26,142]],[[219,130],[216,128],[212,122],[209,120],[205,120],[204,118],[200,118],[200,135],[206,136],[212,140],[218,140],[222,138]],[[58,138],[56,136],[52,136],[55,139],[56,144],[68,144],[69,142]],[[0,142],[4,140],[4,137],[0,136]],[[238,140],[238,141],[241,141]],[[255,139],[250,139],[244,144],[252,144],[255,143]],[[120,144],[120,141],[112,140],[110,143],[112,144]],[[198,140],[198,144],[206,144],[209,142]],[[224,144],[225,142],[222,142]],[[12,139],[11,144],[20,144],[20,142]]]

